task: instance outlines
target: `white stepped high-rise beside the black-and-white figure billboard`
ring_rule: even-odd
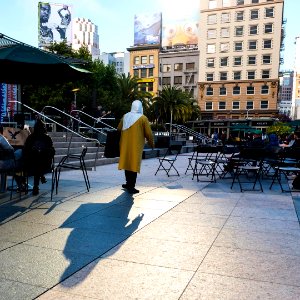
[[[78,50],[82,45],[87,46],[93,60],[99,58],[98,26],[89,19],[76,18],[73,20],[72,48]]]

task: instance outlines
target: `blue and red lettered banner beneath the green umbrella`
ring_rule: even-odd
[[[16,84],[0,83],[0,123],[9,121],[17,109],[18,86]]]

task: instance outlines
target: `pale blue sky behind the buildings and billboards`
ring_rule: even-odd
[[[126,51],[134,42],[134,15],[161,12],[163,18],[180,16],[199,0],[62,0],[72,6],[73,16],[90,19],[98,26],[100,51]],[[200,0],[201,1],[201,0]],[[39,0],[0,0],[0,33],[38,46]],[[46,1],[44,1],[46,2]],[[299,0],[285,0],[286,38],[282,70],[293,69],[295,37],[300,36]]]

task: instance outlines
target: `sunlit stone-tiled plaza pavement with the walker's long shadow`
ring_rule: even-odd
[[[139,194],[117,164],[0,194],[0,299],[300,299],[300,194],[230,189],[142,162]]]

